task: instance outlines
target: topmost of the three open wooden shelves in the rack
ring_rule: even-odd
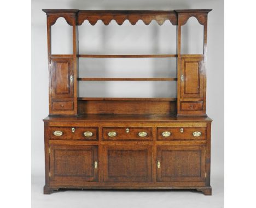
[[[97,55],[97,54],[79,54],[80,58],[168,58],[178,57],[177,54],[145,54],[145,55]]]

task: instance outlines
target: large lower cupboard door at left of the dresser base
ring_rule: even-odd
[[[98,181],[98,147],[50,144],[50,179]]]

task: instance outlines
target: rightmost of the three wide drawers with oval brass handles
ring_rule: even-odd
[[[205,127],[160,127],[158,140],[205,140]]]

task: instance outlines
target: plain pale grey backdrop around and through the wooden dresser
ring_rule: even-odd
[[[66,191],[43,195],[44,132],[48,113],[48,60],[46,15],[42,9],[213,9],[208,16],[207,115],[212,123],[212,197],[188,191]],[[202,27],[190,19],[182,29],[182,52],[201,53]],[[58,34],[58,31],[62,31]],[[89,32],[88,32],[89,31]],[[71,27],[59,19],[53,27],[53,53],[69,53]],[[176,53],[176,31],[170,23],[145,26],[139,21],[131,26],[87,21],[79,27],[79,52],[95,54]],[[188,45],[188,43],[190,43]],[[170,59],[103,59],[80,62],[80,77],[174,77],[175,60]],[[135,74],[136,73],[136,74]],[[129,87],[132,84],[132,88]],[[173,96],[171,82],[102,82],[82,83],[80,96]],[[88,90],[86,89],[94,89]],[[138,90],[139,89],[139,90]],[[170,90],[172,89],[172,90]],[[71,1],[32,0],[32,205],[33,207],[223,207],[224,203],[224,1]]]

